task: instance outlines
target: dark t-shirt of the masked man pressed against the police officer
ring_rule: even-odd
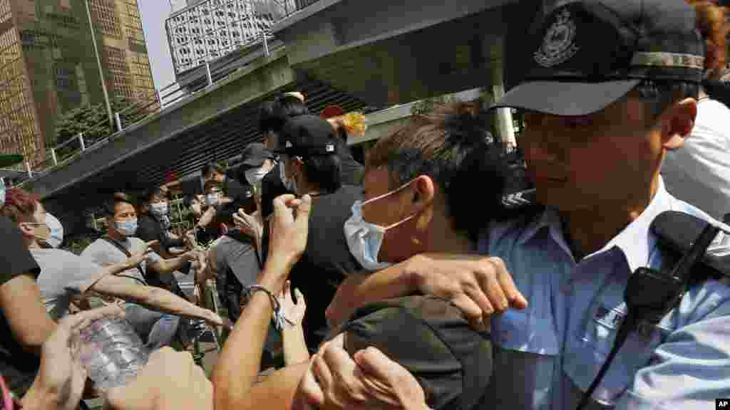
[[[377,347],[406,368],[431,409],[490,407],[484,403],[492,374],[490,336],[472,330],[447,301],[408,296],[372,303],[339,330],[350,355]]]

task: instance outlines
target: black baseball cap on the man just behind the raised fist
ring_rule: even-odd
[[[299,115],[289,118],[281,128],[277,150],[291,156],[334,155],[336,131],[318,115]]]

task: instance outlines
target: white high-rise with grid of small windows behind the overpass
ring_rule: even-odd
[[[175,74],[261,41],[295,9],[294,0],[188,0],[165,23]]]

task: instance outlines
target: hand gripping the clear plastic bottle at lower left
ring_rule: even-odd
[[[72,336],[101,317],[124,317],[118,306],[106,306],[65,317],[45,341],[36,379],[23,397],[23,406],[74,410],[86,383],[86,370],[72,357]],[[45,403],[41,405],[41,403]]]

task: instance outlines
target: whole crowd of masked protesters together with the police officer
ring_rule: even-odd
[[[727,20],[696,0],[542,15],[525,79],[493,105],[526,120],[534,201],[516,207],[478,104],[413,115],[358,163],[345,112],[296,92],[261,104],[263,142],[235,166],[201,169],[184,233],[174,184],[118,192],[74,255],[37,196],[0,185],[1,387],[23,408],[85,406],[99,392],[69,340],[116,316],[153,353],[110,409],[713,408],[730,398],[722,272],[612,347],[632,273],[678,258],[659,214],[721,226],[729,249]],[[210,379],[188,353],[206,326],[226,334]]]

